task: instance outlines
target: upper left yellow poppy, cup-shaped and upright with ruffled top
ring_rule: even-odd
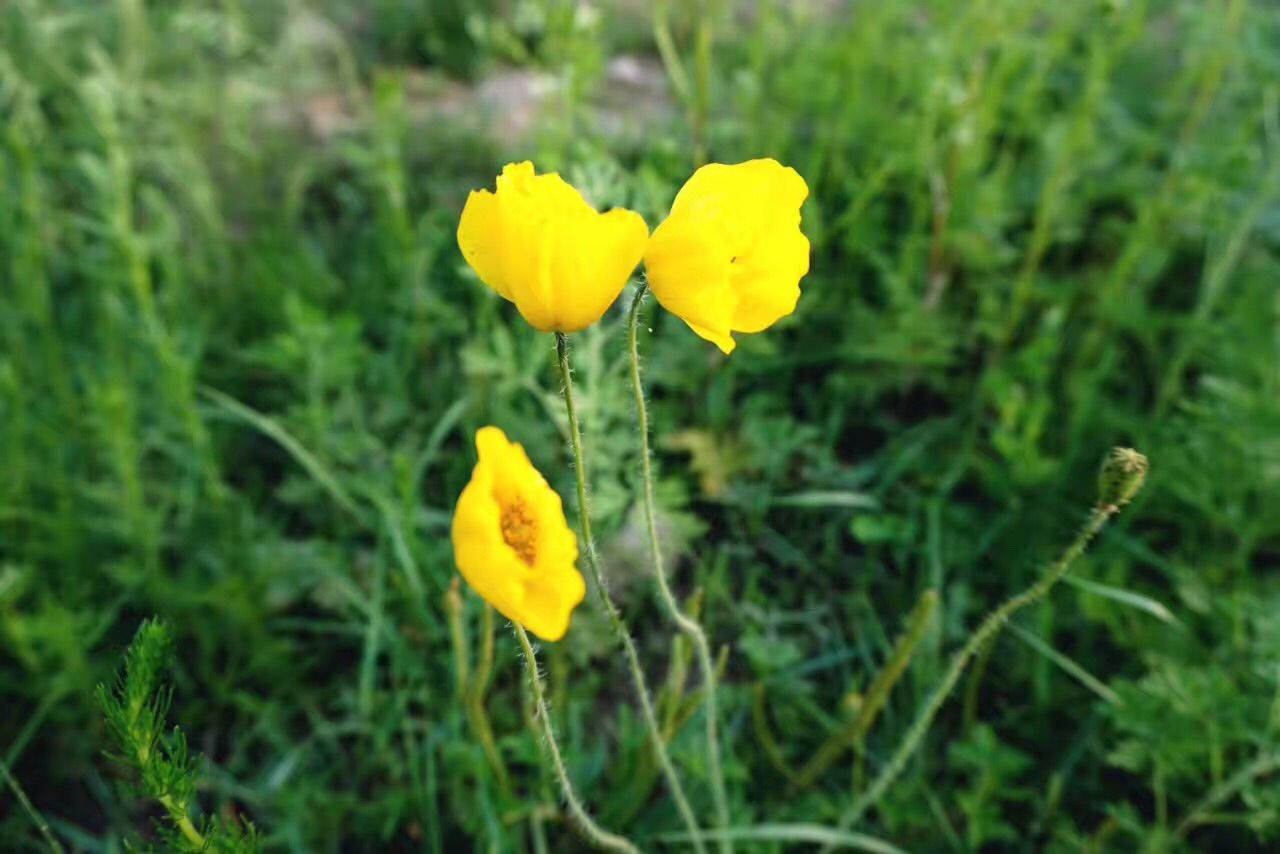
[[[649,227],[635,211],[599,214],[554,172],[503,166],[498,192],[472,191],[458,223],[462,256],[535,329],[577,332],[618,298]]]

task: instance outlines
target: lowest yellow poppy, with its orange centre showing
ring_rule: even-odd
[[[480,461],[453,511],[453,558],[498,613],[559,640],[586,595],[559,495],[498,428],[476,433],[476,451]]]

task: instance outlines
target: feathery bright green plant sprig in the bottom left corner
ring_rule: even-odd
[[[97,702],[119,752],[115,758],[137,772],[143,793],[164,808],[169,850],[257,851],[252,825],[242,828],[218,819],[191,821],[200,759],[188,752],[182,730],[165,732],[173,689],[164,677],[173,654],[169,627],[143,621],[124,654],[116,684],[97,686]]]

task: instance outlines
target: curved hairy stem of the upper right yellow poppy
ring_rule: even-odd
[[[716,665],[712,663],[712,649],[707,641],[707,632],[696,620],[680,609],[676,597],[667,584],[667,572],[662,565],[662,549],[658,545],[658,524],[654,512],[653,499],[653,462],[649,449],[649,408],[644,399],[644,384],[640,382],[640,348],[636,343],[636,328],[640,325],[640,306],[644,302],[648,286],[643,282],[636,288],[636,294],[631,300],[631,314],[627,323],[627,348],[631,353],[631,391],[636,399],[636,429],[640,431],[640,471],[644,480],[644,517],[649,534],[649,554],[653,558],[653,574],[658,579],[658,590],[662,593],[662,603],[667,613],[682,632],[689,635],[698,654],[698,667],[703,671],[703,685],[707,693],[707,766],[712,778],[712,795],[716,799],[716,821],[719,830],[726,831],[721,836],[721,850],[731,854],[733,840],[728,836],[728,798],[724,794],[724,772],[721,764],[719,735],[717,732],[717,705],[716,705]]]

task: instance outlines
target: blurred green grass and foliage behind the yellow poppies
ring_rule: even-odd
[[[650,303],[640,343],[673,583],[726,650],[735,823],[833,826],[1132,444],[1146,492],[859,830],[1275,850],[1265,0],[0,4],[0,759],[56,837],[155,839],[93,689],[159,616],[202,814],[280,851],[577,850],[502,621],[495,755],[458,679],[486,647],[449,593],[474,430],[567,501],[572,472],[550,337],[479,284],[457,218],[530,157],[653,227],[700,159],[754,156],[812,188],[797,311],[726,359]],[[576,335],[593,511],[710,823],[696,668],[646,576],[623,305]],[[874,727],[800,773],[927,590]],[[617,652],[590,600],[544,645],[570,772],[605,827],[684,850]],[[0,791],[0,849],[40,850]]]

